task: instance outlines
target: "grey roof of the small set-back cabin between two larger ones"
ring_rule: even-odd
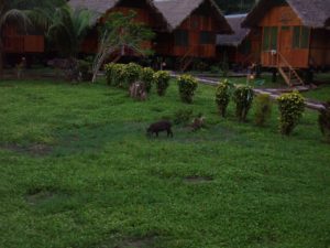
[[[226,19],[234,33],[217,35],[217,45],[239,46],[246,37],[246,35],[250,33],[250,29],[245,29],[241,26],[246,15],[248,14],[226,15]]]

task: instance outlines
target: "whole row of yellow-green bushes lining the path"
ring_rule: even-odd
[[[131,84],[140,80],[144,84],[145,90],[151,93],[153,85],[158,96],[165,96],[169,86],[170,75],[168,72],[154,72],[150,67],[142,67],[135,63],[114,64],[105,66],[108,85],[120,88],[129,88]],[[182,75],[177,78],[178,93],[183,103],[193,104],[198,82],[190,75]],[[231,90],[233,88],[233,90]],[[246,121],[248,114],[254,100],[253,88],[249,85],[231,86],[228,79],[220,82],[216,88],[216,103],[221,117],[226,117],[227,108],[232,99],[235,103],[235,116],[239,121]],[[297,93],[283,94],[277,99],[279,108],[279,131],[289,136],[299,123],[305,109],[304,97]],[[254,122],[256,126],[264,126],[272,115],[272,100],[268,95],[258,95],[255,99]],[[329,111],[329,108],[327,108]],[[321,111],[319,127],[326,139],[329,140],[329,112]]]

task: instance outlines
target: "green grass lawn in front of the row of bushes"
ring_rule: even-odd
[[[0,82],[1,248],[327,248],[330,147],[317,112],[294,134],[238,123],[215,88],[182,104],[131,100],[121,89]],[[145,128],[194,109],[207,129]],[[200,176],[200,177],[199,177]]]

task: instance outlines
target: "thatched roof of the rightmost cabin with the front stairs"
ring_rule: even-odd
[[[242,25],[256,26],[270,9],[283,3],[287,3],[306,26],[323,28],[330,18],[329,0],[260,0]]]

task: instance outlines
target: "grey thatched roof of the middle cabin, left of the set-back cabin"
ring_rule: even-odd
[[[221,10],[215,0],[153,0],[156,9],[163,14],[168,23],[168,30],[177,29],[196,9],[202,3],[209,1],[215,8],[221,33],[232,33],[230,25],[227,23]]]

